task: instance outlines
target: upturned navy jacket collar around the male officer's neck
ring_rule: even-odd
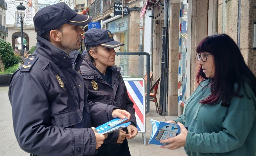
[[[73,69],[75,69],[75,67],[80,67],[80,65],[82,64],[84,57],[79,54],[78,51],[71,51],[69,52],[69,55],[67,55],[66,52],[54,46],[51,42],[47,41],[39,35],[37,35],[37,40],[37,53],[48,58],[56,65],[59,65],[63,68],[72,67]]]

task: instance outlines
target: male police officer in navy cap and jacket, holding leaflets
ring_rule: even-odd
[[[83,56],[79,27],[91,17],[65,3],[46,6],[34,16],[36,51],[13,75],[9,99],[20,147],[34,155],[93,155],[106,135],[89,128],[91,119],[130,118],[115,106],[87,102],[79,67]],[[91,115],[91,116],[90,116]],[[32,154],[31,154],[32,155]]]

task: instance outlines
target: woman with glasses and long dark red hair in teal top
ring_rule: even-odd
[[[184,147],[189,156],[255,156],[255,75],[226,34],[206,37],[196,52],[199,86],[187,100],[183,115],[168,121],[178,123],[182,132],[161,141],[169,143],[161,147]]]

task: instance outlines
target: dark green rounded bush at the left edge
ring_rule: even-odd
[[[20,57],[14,55],[14,50],[11,44],[0,39],[0,70],[4,71],[9,67],[18,64],[19,61]]]

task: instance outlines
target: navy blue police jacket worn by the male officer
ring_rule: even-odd
[[[93,155],[92,118],[112,119],[114,106],[89,102],[79,73],[83,56],[67,55],[37,36],[36,51],[13,75],[9,99],[18,143],[35,155]]]

